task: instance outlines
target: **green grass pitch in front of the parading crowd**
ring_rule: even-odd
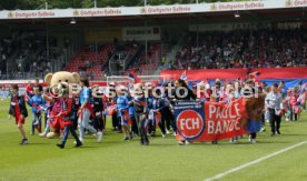
[[[159,134],[149,147],[141,147],[138,139],[123,142],[122,134],[108,129],[101,143],[88,135],[85,147],[75,149],[69,139],[60,150],[59,139],[29,135],[29,117],[30,143],[19,145],[21,137],[14,120],[8,120],[8,105],[0,101],[0,180],[204,180],[307,140],[304,114],[300,122],[283,122],[281,135],[269,137],[267,127],[256,144],[245,137],[237,144],[225,140],[218,145],[180,147],[172,135],[162,139]],[[307,180],[306,149],[304,144],[221,180]]]

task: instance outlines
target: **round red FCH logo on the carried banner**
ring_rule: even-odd
[[[185,110],[177,117],[178,133],[186,140],[195,140],[205,130],[205,120],[194,110]]]

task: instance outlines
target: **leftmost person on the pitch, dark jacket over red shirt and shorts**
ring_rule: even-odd
[[[28,110],[26,107],[24,98],[23,95],[18,95],[18,86],[12,84],[11,86],[11,101],[10,101],[10,110],[9,114],[13,115],[16,119],[16,124],[21,133],[22,140],[20,144],[28,144],[28,139],[26,137],[26,132],[23,129],[24,120],[28,117]]]

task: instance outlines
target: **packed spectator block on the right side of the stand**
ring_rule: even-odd
[[[307,64],[307,34],[295,30],[236,30],[188,34],[168,69],[279,68]]]

